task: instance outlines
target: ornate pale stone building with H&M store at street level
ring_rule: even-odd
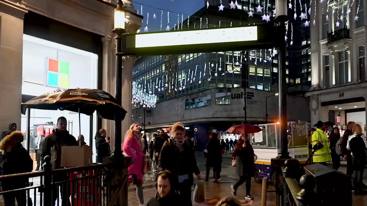
[[[340,1],[318,10],[323,15],[311,27],[311,120],[332,121],[341,128],[354,121],[366,132],[367,3]]]

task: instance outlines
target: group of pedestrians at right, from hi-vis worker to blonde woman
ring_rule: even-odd
[[[316,129],[309,131],[312,136],[309,147],[312,150],[313,162],[326,165],[332,161],[333,169],[338,170],[343,158],[346,160],[346,174],[352,177],[352,190],[356,195],[363,195],[363,189],[367,188],[363,183],[363,172],[367,163],[367,140],[361,126],[348,122],[343,135],[338,127],[332,128],[322,121],[318,121],[314,126]]]

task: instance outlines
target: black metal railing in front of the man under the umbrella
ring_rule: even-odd
[[[108,178],[113,166],[96,164],[51,170],[50,157],[46,157],[43,171],[0,176],[0,195],[4,206],[109,205]]]

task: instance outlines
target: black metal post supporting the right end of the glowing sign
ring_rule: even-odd
[[[290,158],[288,152],[288,136],[287,136],[287,84],[286,84],[286,41],[284,41],[284,33],[288,16],[280,15],[275,18],[278,26],[281,28],[279,32],[280,45],[278,52],[279,59],[279,146],[277,158]]]

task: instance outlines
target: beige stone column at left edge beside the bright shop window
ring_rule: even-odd
[[[23,18],[28,10],[0,0],[0,130],[21,129]]]

